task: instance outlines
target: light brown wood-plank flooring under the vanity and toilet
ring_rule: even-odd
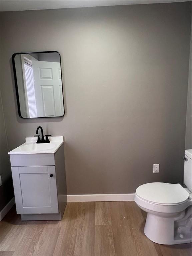
[[[150,241],[145,218],[135,202],[67,203],[62,221],[21,221],[13,207],[0,222],[0,256],[191,256],[191,244]]]

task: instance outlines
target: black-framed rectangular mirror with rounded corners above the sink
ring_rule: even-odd
[[[64,116],[61,56],[57,51],[12,55],[21,118]]]

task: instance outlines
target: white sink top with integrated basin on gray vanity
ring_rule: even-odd
[[[55,153],[63,144],[63,136],[49,137],[50,143],[37,144],[37,138],[26,138],[25,143],[9,152],[16,154],[46,154]]]

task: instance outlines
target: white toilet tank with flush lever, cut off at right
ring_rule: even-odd
[[[185,150],[185,163],[184,163],[184,184],[185,186],[192,191],[192,149]]]

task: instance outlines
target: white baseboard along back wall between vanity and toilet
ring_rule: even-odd
[[[67,195],[67,202],[134,201],[135,194]]]

